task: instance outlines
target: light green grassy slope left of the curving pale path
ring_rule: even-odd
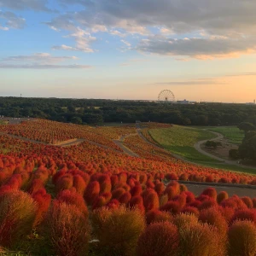
[[[219,162],[207,155],[199,153],[194,148],[195,143],[216,137],[209,131],[174,125],[169,129],[149,130],[149,134],[161,146],[170,150],[172,153],[182,155],[187,160]]]

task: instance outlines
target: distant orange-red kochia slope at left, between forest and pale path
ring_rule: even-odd
[[[91,127],[45,119],[32,119],[19,125],[0,125],[0,131],[47,144],[62,143],[75,138],[86,139],[116,150],[120,148],[113,143],[113,139],[136,132],[135,129],[129,127]]]

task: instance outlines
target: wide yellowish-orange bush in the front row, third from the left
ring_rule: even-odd
[[[138,209],[119,207],[96,209],[92,214],[99,248],[106,255],[134,255],[137,240],[145,228],[143,214]]]

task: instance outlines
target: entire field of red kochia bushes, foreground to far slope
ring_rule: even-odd
[[[21,128],[4,129],[11,134],[22,132]],[[37,131],[30,129],[31,135],[28,128],[17,134],[34,139]],[[86,129],[102,129],[96,136],[110,142],[111,137],[135,132],[132,128]],[[61,130],[57,133],[57,126],[55,132],[59,140],[73,136],[61,134]],[[194,195],[178,183],[255,184],[253,175],[184,163],[138,136],[126,137],[125,145],[141,157],[88,141],[61,148],[1,135],[0,252],[61,256],[256,254],[256,199],[229,197],[213,188]]]

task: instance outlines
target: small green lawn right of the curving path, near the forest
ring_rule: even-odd
[[[236,126],[218,126],[218,127],[198,127],[207,131],[216,131],[226,137],[229,143],[241,144],[244,138],[244,132],[240,131]]]

